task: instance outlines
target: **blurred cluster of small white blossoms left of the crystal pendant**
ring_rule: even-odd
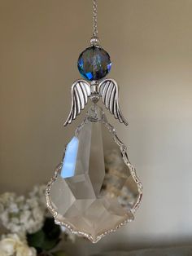
[[[0,196],[0,221],[11,232],[37,232],[46,217],[46,186],[35,186],[28,196],[4,193]]]

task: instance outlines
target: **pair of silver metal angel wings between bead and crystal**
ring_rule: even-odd
[[[95,48],[97,46],[89,47],[86,51],[92,51],[94,55],[96,51],[104,51],[103,49]],[[110,64],[111,65],[111,64]],[[80,68],[79,68],[80,69]],[[84,75],[85,76],[85,75]],[[93,74],[94,77],[94,74]],[[88,103],[90,99],[94,104],[98,102],[100,97],[103,100],[106,108],[114,115],[124,125],[128,125],[128,122],[124,119],[119,106],[118,101],[118,86],[115,80],[111,78],[104,79],[99,82],[94,80],[92,82],[86,82],[85,80],[77,80],[72,85],[72,108],[69,113],[67,121],[65,121],[64,126],[67,126],[76,119],[76,116],[81,113],[81,109],[85,108],[85,104]]]

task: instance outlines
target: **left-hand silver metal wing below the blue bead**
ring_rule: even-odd
[[[85,80],[80,79],[72,84],[72,108],[64,126],[71,124],[72,120],[76,119],[76,116],[81,113],[81,110],[85,108],[85,104],[88,102],[89,95],[90,86]]]

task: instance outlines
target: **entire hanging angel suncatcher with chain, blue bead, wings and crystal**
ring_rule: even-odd
[[[72,108],[64,126],[76,119],[89,99],[93,104],[76,128],[65,148],[63,160],[47,185],[46,202],[55,223],[97,242],[133,220],[142,199],[142,183],[129,162],[124,143],[97,105],[101,98],[110,113],[120,123],[128,125],[120,111],[115,80],[103,79],[110,72],[111,60],[98,42],[96,0],[94,35],[77,65],[85,79],[72,84]],[[122,157],[118,168],[113,170],[107,170],[105,166],[102,126],[115,141]]]

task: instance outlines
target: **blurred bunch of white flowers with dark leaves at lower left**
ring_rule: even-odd
[[[64,256],[55,251],[60,241],[75,236],[55,224],[46,210],[46,185],[35,186],[26,196],[5,192],[0,196],[0,221],[7,229],[0,241],[1,256]]]

